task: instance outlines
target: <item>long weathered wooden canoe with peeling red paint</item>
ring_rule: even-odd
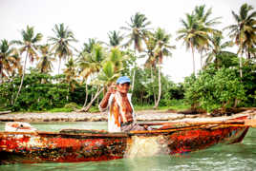
[[[248,126],[212,123],[178,128],[162,126],[151,131],[129,133],[81,129],[0,132],[0,164],[108,161],[126,157],[188,153],[219,143],[242,142],[247,130]]]

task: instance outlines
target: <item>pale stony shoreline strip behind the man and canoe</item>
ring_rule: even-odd
[[[190,120],[197,118],[198,120],[212,120],[212,118],[226,118],[212,117],[209,114],[178,114],[168,110],[140,110],[136,111],[137,119],[139,122],[151,122],[151,121],[178,121],[178,120]],[[256,108],[248,109],[244,112],[233,114],[238,115],[252,115],[256,116]],[[228,117],[230,118],[230,117]],[[79,112],[41,112],[41,113],[9,113],[0,115],[0,122],[106,122],[107,113],[79,113]]]

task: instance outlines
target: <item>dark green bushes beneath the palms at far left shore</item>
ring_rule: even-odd
[[[22,88],[21,94],[16,102],[12,105],[13,97],[17,92],[18,85],[20,84],[20,78],[16,77],[12,83],[5,83],[0,85],[0,102],[5,107],[11,107],[12,110],[29,110],[29,111],[44,111],[54,107],[63,107],[69,103],[67,96],[75,100],[77,93],[68,93],[68,84],[53,84],[57,79],[63,79],[62,76],[51,76],[49,74],[40,74],[32,72],[27,74],[24,79],[24,87]],[[44,84],[43,84],[44,83]],[[78,89],[81,89],[79,86]],[[83,88],[84,89],[84,88]],[[80,91],[82,92],[82,91]],[[84,97],[84,92],[80,94],[80,98]],[[83,102],[80,101],[82,104]]]

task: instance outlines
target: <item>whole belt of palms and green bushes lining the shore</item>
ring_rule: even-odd
[[[256,11],[244,4],[232,14],[234,24],[224,28],[228,35],[214,28],[221,19],[211,18],[212,10],[205,6],[185,14],[176,40],[191,49],[194,72],[181,84],[161,73],[162,59],[171,56],[175,40],[162,28],[149,29],[151,22],[139,12],[126,27],[110,31],[108,43],[89,39],[80,50],[72,46],[77,43],[75,35],[64,24],[53,27],[47,44],[40,44],[43,35],[28,26],[22,29],[21,40],[0,43],[0,109],[80,107],[88,111],[120,75],[131,78],[135,105],[182,105],[223,112],[256,106]],[[195,71],[196,50],[201,54],[199,73]],[[143,68],[137,66],[139,58],[146,58]],[[28,59],[34,64],[29,69]],[[57,67],[53,67],[55,60]],[[65,68],[60,70],[63,63]],[[57,75],[53,76],[53,69],[58,69]]]

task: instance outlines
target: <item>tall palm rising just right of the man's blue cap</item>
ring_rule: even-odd
[[[145,39],[147,28],[151,24],[150,21],[147,21],[147,18],[144,14],[137,12],[134,16],[131,17],[131,23],[127,23],[128,28],[122,27],[122,29],[126,29],[129,31],[129,34],[126,36],[128,37],[128,42],[125,44],[125,47],[130,46],[134,43],[135,52],[138,50],[139,52],[142,51],[142,40]],[[135,63],[136,65],[136,63]],[[136,67],[136,66],[134,66]],[[132,92],[134,89],[135,84],[135,75],[136,69],[134,69],[133,73],[133,83],[132,83]]]

